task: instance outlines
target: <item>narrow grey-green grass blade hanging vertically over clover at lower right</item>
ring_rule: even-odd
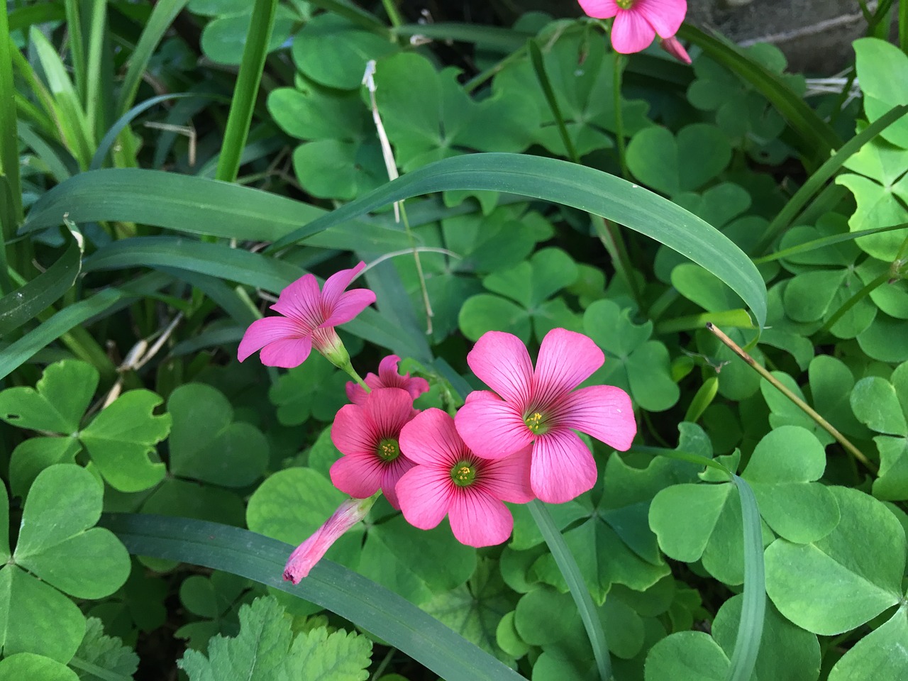
[[[728,670],[728,681],[748,681],[754,674],[756,656],[766,615],[766,578],[763,558],[763,532],[754,490],[745,479],[732,476],[741,499],[744,531],[744,603],[738,624],[735,651]]]

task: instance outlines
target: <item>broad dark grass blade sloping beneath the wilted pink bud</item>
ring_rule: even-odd
[[[292,586],[281,578],[292,547],[246,529],[187,518],[107,514],[130,553],[223,570],[286,591],[345,617],[448,681],[526,681],[404,598],[348,568],[321,560]]]

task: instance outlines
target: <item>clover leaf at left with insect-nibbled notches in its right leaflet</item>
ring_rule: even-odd
[[[163,463],[149,459],[154,445],[170,431],[169,415],[153,415],[161,398],[150,390],[129,390],[80,429],[97,385],[92,365],[62,360],[44,370],[35,389],[0,392],[0,419],[19,428],[59,433],[26,439],[13,451],[10,478],[15,494],[25,494],[46,467],[73,462],[82,449],[114,489],[136,492],[163,479]]]

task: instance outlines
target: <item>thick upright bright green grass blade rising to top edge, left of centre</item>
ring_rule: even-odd
[[[240,73],[233,90],[215,176],[222,182],[235,182],[237,173],[240,172],[240,158],[252,123],[252,110],[262,82],[262,70],[265,67],[265,57],[268,56],[268,43],[277,7],[278,0],[255,0],[252,5],[252,21],[246,35],[246,44],[242,48]]]

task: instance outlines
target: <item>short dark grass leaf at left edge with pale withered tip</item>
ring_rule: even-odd
[[[62,296],[82,268],[82,234],[70,230],[73,242],[46,271],[0,299],[0,336],[17,329]]]

